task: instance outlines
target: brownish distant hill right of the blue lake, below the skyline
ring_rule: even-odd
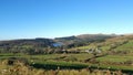
[[[76,36],[65,36],[65,38],[55,38],[54,41],[63,43],[63,45],[69,45],[69,44],[86,44],[86,43],[92,43],[92,42],[101,42],[104,41],[105,39],[111,39],[115,38],[117,35],[108,35],[108,34],[81,34]]]

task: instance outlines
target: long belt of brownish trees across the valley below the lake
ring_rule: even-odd
[[[24,53],[24,54],[53,54],[53,53],[78,53],[75,51],[66,51],[63,47],[9,47],[0,49],[0,53]]]

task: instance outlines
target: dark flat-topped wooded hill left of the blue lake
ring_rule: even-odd
[[[51,39],[24,39],[24,40],[11,40],[0,41],[0,47],[13,47],[13,46],[51,46],[53,40]]]

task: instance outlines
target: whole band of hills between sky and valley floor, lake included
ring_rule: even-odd
[[[0,41],[1,52],[12,51],[57,51],[57,47],[71,50],[100,49],[103,52],[129,53],[132,52],[133,35],[106,35],[106,34],[82,34],[76,36],[64,36],[55,39],[24,39]],[[59,50],[58,50],[59,51]]]

